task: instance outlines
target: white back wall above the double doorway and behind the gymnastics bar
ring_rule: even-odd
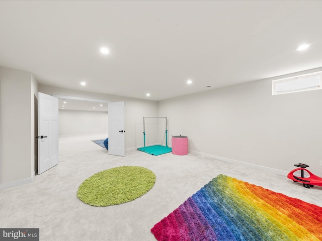
[[[72,89],[39,85],[39,92],[93,99],[104,99],[113,102],[124,101],[125,105],[125,148],[135,149],[143,146],[143,116],[157,116],[158,102],[135,99],[116,95],[100,94]],[[157,130],[151,137],[157,136]],[[151,140],[151,142],[155,142]]]

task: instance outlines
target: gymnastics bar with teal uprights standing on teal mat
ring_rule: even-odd
[[[153,145],[153,146],[145,146],[145,118],[165,118],[166,119],[166,146],[162,145]],[[162,155],[169,152],[172,152],[172,148],[168,147],[168,119],[167,117],[154,117],[154,116],[143,116],[143,143],[144,146],[138,148],[137,150],[141,152],[145,152],[152,156]]]

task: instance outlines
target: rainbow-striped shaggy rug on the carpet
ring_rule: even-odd
[[[322,207],[220,174],[151,232],[157,240],[322,240]]]

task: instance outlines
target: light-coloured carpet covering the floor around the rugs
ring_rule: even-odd
[[[125,157],[111,156],[89,141],[104,137],[60,138],[57,166],[37,175],[33,183],[0,191],[0,227],[39,227],[42,241],[155,240],[153,225],[220,173],[322,206],[321,187],[307,189],[286,176],[191,153],[151,156],[133,150]],[[107,207],[77,198],[85,179],[119,166],[148,168],[156,175],[154,187],[134,201]]]

